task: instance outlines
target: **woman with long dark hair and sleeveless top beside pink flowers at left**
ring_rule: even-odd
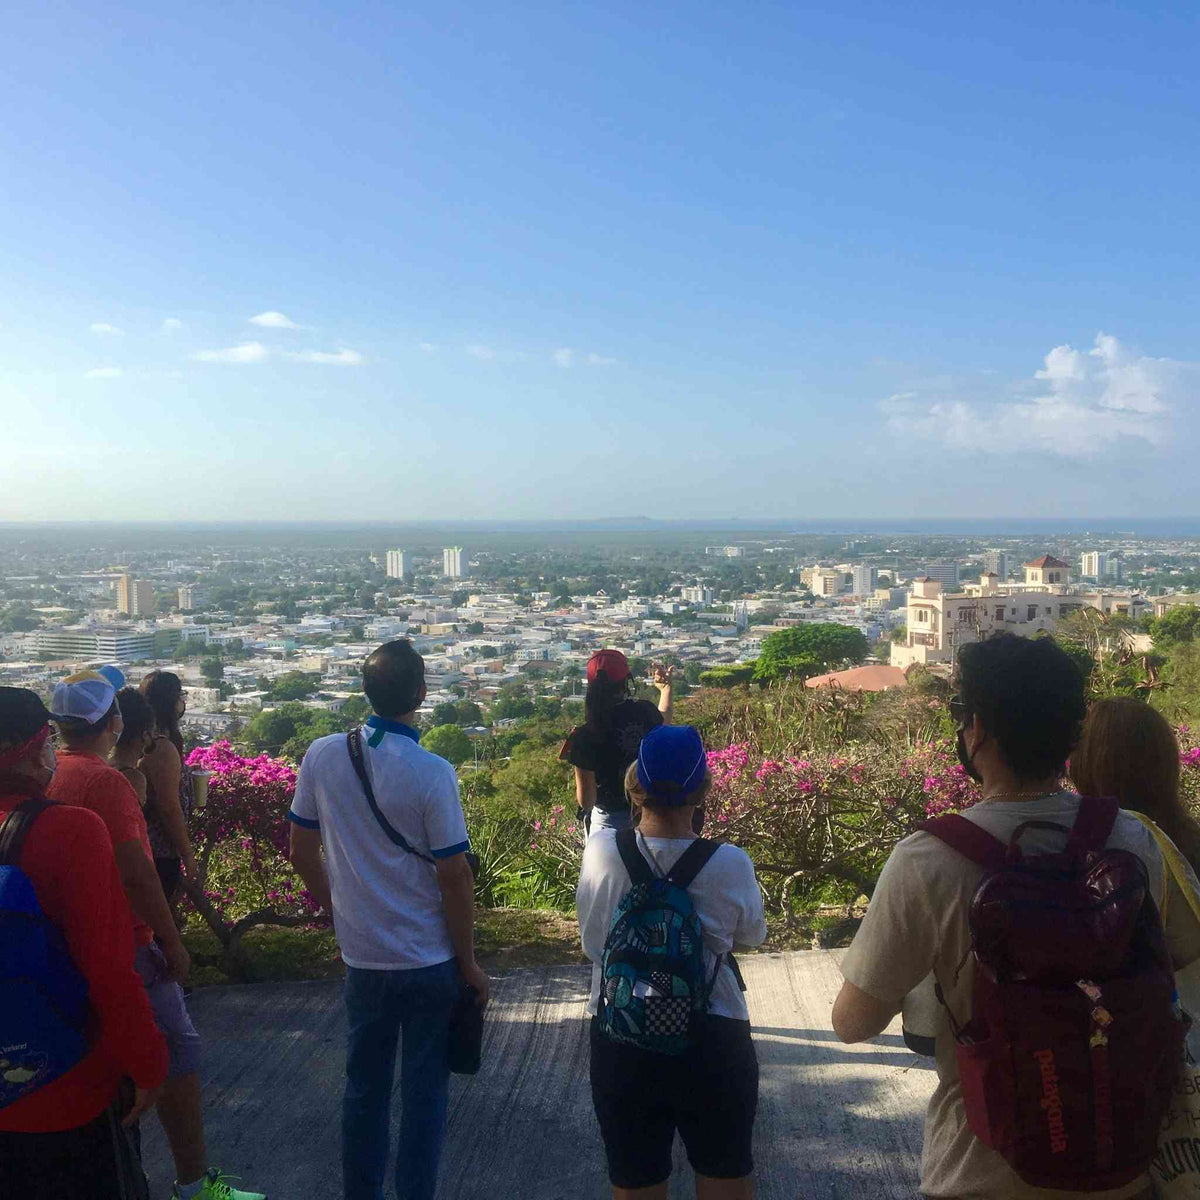
[[[180,868],[196,878],[196,858],[187,836],[192,776],[184,766],[179,719],[187,710],[184,685],[170,671],[151,671],[138,691],[154,712],[156,734],[138,763],[146,778],[146,828],[154,862],[168,900],[179,890]]]

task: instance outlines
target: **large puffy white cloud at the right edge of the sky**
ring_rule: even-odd
[[[1033,379],[1032,395],[1028,383],[1014,384],[998,402],[948,389],[938,398],[900,392],[880,409],[893,433],[952,450],[1078,460],[1129,439],[1164,446],[1172,415],[1200,395],[1200,364],[1135,355],[1109,334],[1086,353],[1056,346]]]

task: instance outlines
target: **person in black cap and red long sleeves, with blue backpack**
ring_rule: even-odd
[[[143,1198],[128,1128],[167,1078],[103,821],[47,800],[50,714],[0,688],[0,1195]]]

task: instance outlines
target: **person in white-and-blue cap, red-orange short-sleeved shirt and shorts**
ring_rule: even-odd
[[[158,1097],[158,1121],[175,1160],[174,1200],[265,1200],[230,1187],[208,1164],[200,1103],[200,1037],[180,983],[190,959],[158,881],[137,792],[106,757],[121,736],[113,685],[92,671],[68,676],[54,689],[50,714],[62,749],[48,788],[52,799],[90,809],[108,827],[116,865],[133,910],[133,965],[145,985],[169,1066]]]

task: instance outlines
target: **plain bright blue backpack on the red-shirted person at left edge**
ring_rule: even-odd
[[[66,1074],[88,1054],[88,982],[17,865],[46,799],[0,824],[0,1109]]]

